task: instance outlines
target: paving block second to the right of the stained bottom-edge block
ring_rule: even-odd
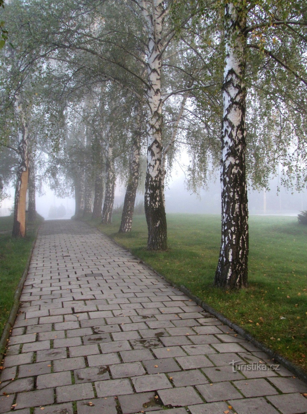
[[[233,385],[229,382],[211,383],[204,385],[197,385],[197,390],[204,397],[206,402],[216,402],[237,398],[243,398]]]

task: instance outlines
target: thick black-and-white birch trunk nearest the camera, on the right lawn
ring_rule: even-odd
[[[222,236],[215,284],[247,286],[248,209],[245,176],[245,13],[242,2],[225,6],[226,58],[221,148]]]

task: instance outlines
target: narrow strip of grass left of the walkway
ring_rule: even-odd
[[[41,221],[42,218],[38,216],[35,223],[29,224],[27,236],[22,239],[11,236],[13,217],[0,217],[0,336],[10,315],[14,293]]]

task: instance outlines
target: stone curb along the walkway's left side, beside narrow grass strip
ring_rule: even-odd
[[[22,274],[21,279],[19,280],[19,283],[17,285],[17,289],[14,293],[14,298],[13,298],[13,305],[10,311],[10,315],[7,318],[7,322],[5,323],[5,327],[3,329],[2,335],[1,335],[1,339],[0,339],[0,355],[3,355],[5,353],[5,349],[7,347],[7,339],[9,339],[10,337],[10,333],[12,330],[12,327],[15,323],[16,317],[17,317],[17,313],[18,313],[18,309],[19,309],[19,299],[20,296],[22,294],[22,289],[24,287],[24,282],[26,281],[26,277],[28,275],[28,271],[29,271],[29,267],[30,267],[30,263],[31,263],[31,258],[33,255],[33,250],[36,244],[36,240],[37,240],[37,235],[38,235],[38,231],[41,227],[41,224],[38,226],[36,233],[35,233],[35,239],[32,243],[32,247],[29,253],[29,257],[28,260],[26,262],[26,267],[24,268],[24,272]]]

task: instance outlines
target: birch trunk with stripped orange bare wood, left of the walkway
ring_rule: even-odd
[[[14,222],[12,236],[26,235],[26,191],[29,180],[29,125],[20,96],[14,103],[14,110],[19,119],[18,128],[18,168],[14,199]]]

